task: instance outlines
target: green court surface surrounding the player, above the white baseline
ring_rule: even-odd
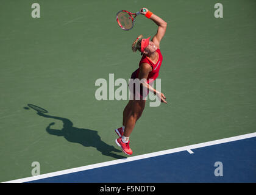
[[[128,80],[138,35],[157,26],[138,15],[124,31],[115,15],[147,7],[168,23],[161,88],[130,137],[133,156],[255,132],[256,2],[2,0],[0,6],[0,182],[126,158],[115,144],[128,100],[95,98],[99,78]],[[116,87],[117,88],[117,87]],[[37,113],[34,104],[48,113]],[[61,133],[65,130],[66,133]]]

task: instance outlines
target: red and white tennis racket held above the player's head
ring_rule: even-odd
[[[116,21],[123,30],[130,30],[134,26],[135,18],[140,15],[140,12],[131,13],[126,10],[121,10],[116,13]]]

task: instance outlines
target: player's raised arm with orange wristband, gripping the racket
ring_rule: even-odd
[[[154,13],[150,12],[146,8],[142,8],[140,10],[140,13],[145,15],[147,18],[152,19],[155,24],[157,24],[158,29],[157,29],[157,34],[152,38],[152,42],[156,44],[158,48],[160,48],[160,41],[162,40],[163,36],[165,35],[167,23],[164,21],[162,18],[159,16],[155,15]]]

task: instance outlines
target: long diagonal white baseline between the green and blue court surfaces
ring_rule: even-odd
[[[216,144],[227,143],[227,142],[230,142],[230,141],[243,140],[243,139],[252,138],[252,137],[256,137],[256,132],[248,133],[248,134],[244,134],[244,135],[238,135],[238,136],[230,137],[230,138],[224,138],[224,139],[221,139],[221,140],[207,141],[207,142],[204,142],[204,143],[193,144],[193,145],[190,145],[190,146],[177,147],[177,148],[169,149],[169,150],[165,150],[165,151],[159,151],[159,152],[152,152],[152,153],[149,153],[149,154],[137,155],[135,157],[128,157],[128,158],[122,158],[122,159],[118,159],[118,160],[107,161],[107,162],[104,162],[104,163],[97,163],[97,164],[94,164],[94,165],[80,166],[78,168],[72,168],[72,169],[66,169],[66,170],[63,170],[63,171],[50,172],[50,173],[42,174],[42,175],[39,175],[39,176],[32,176],[32,177],[26,177],[26,178],[23,178],[23,179],[10,180],[10,181],[3,182],[3,183],[30,182],[30,181],[33,181],[33,180],[44,179],[44,178],[54,177],[54,176],[60,176],[60,175],[63,175],[63,174],[69,174],[69,173],[78,172],[78,171],[85,171],[85,170],[88,170],[88,169],[101,168],[101,167],[104,167],[104,166],[117,165],[117,164],[120,164],[120,163],[127,163],[129,161],[135,161],[135,160],[141,160],[141,159],[144,159],[144,158],[157,157],[157,156],[165,155],[165,154],[172,154],[172,153],[182,152],[182,151],[190,152],[191,149],[196,149],[196,148],[199,148],[199,147],[213,146],[213,145],[216,145]]]

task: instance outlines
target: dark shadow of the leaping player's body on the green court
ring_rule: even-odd
[[[73,122],[71,122],[67,118],[62,118],[58,116],[50,116],[41,112],[37,112],[37,115],[43,116],[45,118],[57,119],[63,122],[63,128],[52,129],[51,126],[55,124],[55,122],[51,122],[48,127],[46,127],[46,131],[51,135],[63,136],[66,140],[73,143],[82,144],[85,147],[95,147],[101,154],[113,157],[113,158],[126,158],[121,155],[117,155],[113,152],[122,152],[116,149],[113,146],[108,145],[99,137],[98,132],[96,130],[91,129],[81,129],[77,127],[73,127]]]

